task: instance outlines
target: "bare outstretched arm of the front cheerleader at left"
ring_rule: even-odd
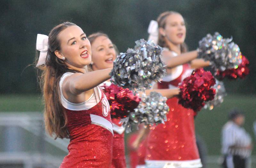
[[[66,93],[71,93],[74,95],[86,92],[104,81],[107,81],[110,76],[112,68],[97,70],[93,72],[88,72],[85,74],[76,73],[73,74],[63,82],[62,90]]]

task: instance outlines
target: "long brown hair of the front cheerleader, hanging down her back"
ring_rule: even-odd
[[[48,38],[48,53],[46,56],[45,65],[39,66],[41,71],[38,78],[40,87],[44,96],[44,124],[46,132],[52,136],[55,134],[55,139],[68,138],[67,115],[63,109],[60,100],[59,82],[62,74],[73,72],[75,70],[68,69],[63,60],[55,55],[56,50],[60,50],[60,40],[58,35],[61,31],[69,26],[75,26],[74,23],[65,22],[55,26],[49,33]]]

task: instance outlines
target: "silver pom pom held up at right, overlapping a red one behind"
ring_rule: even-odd
[[[218,32],[214,36],[207,34],[199,41],[198,58],[210,61],[216,71],[236,68],[242,62],[242,56],[239,47],[231,41],[232,38],[223,39]]]

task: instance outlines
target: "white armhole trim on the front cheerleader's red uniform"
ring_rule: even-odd
[[[63,96],[63,93],[62,93],[63,81],[66,79],[66,77],[72,74],[74,73],[67,72],[63,74],[62,77],[60,78],[60,99],[61,99],[62,106],[69,110],[79,111],[79,110],[88,110],[93,106],[95,106],[96,104],[98,104],[101,99],[101,91],[99,87],[97,87],[97,89],[94,88],[94,92],[96,96],[94,96],[94,93],[93,93],[87,101],[84,101],[82,103],[72,103]]]

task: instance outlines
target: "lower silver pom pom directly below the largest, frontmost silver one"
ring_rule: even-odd
[[[121,119],[126,132],[131,132],[132,126],[138,127],[140,123],[146,126],[164,123],[169,112],[166,101],[167,98],[157,92],[151,92],[149,96],[143,94],[138,107],[128,117]]]

